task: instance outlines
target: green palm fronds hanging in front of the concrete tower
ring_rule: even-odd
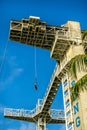
[[[82,63],[87,66],[87,43],[84,42],[86,36],[87,36],[87,30],[82,35],[82,44],[85,49],[84,50],[85,54],[76,56],[70,62],[69,71],[74,76],[74,78],[77,78],[76,65]],[[71,101],[73,102],[75,99],[79,98],[79,94],[81,91],[87,90],[87,74],[83,76],[80,80],[78,80],[77,83],[74,85],[74,87],[72,87],[70,90],[71,90]]]

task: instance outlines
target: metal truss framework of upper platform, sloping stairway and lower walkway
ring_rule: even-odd
[[[39,17],[30,16],[29,19],[11,21],[10,40],[49,50],[51,58],[56,59],[57,64],[45,96],[38,100],[36,108],[33,110],[5,108],[5,117],[35,122],[36,130],[47,130],[46,123],[65,123],[66,113],[63,110],[51,110],[50,107],[60,83],[64,83],[62,78],[66,75],[70,60],[74,57],[73,55],[67,58],[67,51],[72,45],[78,46],[82,42],[79,34],[77,35],[78,32],[74,32],[73,29],[70,32],[67,24],[64,26],[47,25]]]

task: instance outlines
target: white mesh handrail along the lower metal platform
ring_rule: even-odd
[[[33,118],[36,114],[36,110],[24,110],[24,109],[13,109],[13,108],[5,108],[4,109],[4,116],[8,117],[29,117]],[[63,110],[56,110],[51,109],[49,110],[49,114],[52,119],[64,119],[64,111]]]

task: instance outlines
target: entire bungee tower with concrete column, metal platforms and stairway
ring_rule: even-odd
[[[84,103],[83,95],[86,98],[87,93],[81,91],[79,98],[72,98],[76,95],[72,88],[87,74],[87,62],[83,60],[86,59],[87,40],[82,41],[83,32],[80,29],[80,23],[76,21],[67,21],[62,26],[47,25],[39,17],[34,16],[21,21],[11,21],[10,40],[49,50],[50,57],[54,58],[57,64],[45,96],[43,99],[38,99],[35,109],[5,108],[6,118],[35,122],[36,130],[47,130],[46,123],[66,123],[66,130],[86,130],[87,103]],[[81,60],[78,60],[78,57]],[[72,64],[74,61],[76,61],[75,64]],[[74,69],[71,68],[72,66]],[[76,73],[72,74],[72,70]],[[62,83],[65,111],[51,110],[50,107],[60,83]],[[86,116],[83,116],[84,111]]]

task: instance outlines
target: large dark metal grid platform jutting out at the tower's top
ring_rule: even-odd
[[[10,24],[10,40],[20,42],[27,45],[36,46],[39,48],[52,50],[56,36],[58,36],[61,44],[64,45],[64,41],[68,43],[66,47],[70,45],[69,37],[67,35],[68,27],[62,26],[50,26],[46,22],[41,21],[37,17],[30,17],[29,19],[22,19],[21,21],[12,20]],[[57,33],[57,35],[56,35]],[[67,42],[68,41],[68,42]],[[61,51],[66,48],[61,46],[58,42],[58,55],[59,59],[63,56]],[[61,56],[60,56],[61,54]],[[52,56],[52,58],[55,58]],[[59,60],[57,58],[57,60]]]

